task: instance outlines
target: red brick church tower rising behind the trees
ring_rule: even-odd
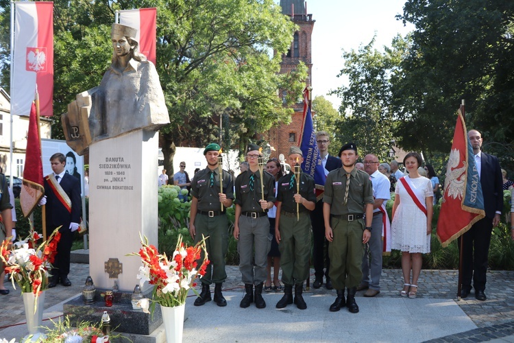
[[[310,84],[310,80],[313,80],[312,48],[310,42],[315,21],[313,21],[313,15],[307,13],[306,5],[307,3],[304,3],[303,0],[280,0],[282,14],[289,16],[291,21],[299,26],[299,31],[294,34],[291,48],[287,54],[282,56],[280,73],[289,73],[302,61],[308,67],[308,80],[306,80],[306,84]],[[282,92],[281,96],[284,97],[287,90],[280,90],[280,92]],[[291,117],[289,125],[280,123],[267,132],[267,137],[265,138],[269,141],[269,145],[276,150],[271,152],[272,157],[278,157],[279,154],[287,156],[289,147],[298,145],[304,115],[303,103],[293,105],[293,109],[295,113]]]

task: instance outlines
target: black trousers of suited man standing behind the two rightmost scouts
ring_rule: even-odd
[[[330,271],[330,259],[328,258],[328,241],[325,238],[325,222],[323,222],[323,202],[316,202],[314,211],[310,212],[310,223],[313,226],[313,263],[314,274],[322,278],[323,274],[328,277]],[[327,247],[325,249],[325,246]],[[326,271],[323,268],[326,263]]]

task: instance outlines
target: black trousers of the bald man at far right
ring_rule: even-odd
[[[461,249],[461,239],[464,239],[462,285],[465,289],[471,289],[473,279],[473,287],[476,291],[485,290],[487,257],[492,231],[493,219],[485,217],[459,237],[459,250]]]

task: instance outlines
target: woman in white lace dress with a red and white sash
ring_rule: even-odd
[[[402,251],[404,287],[401,296],[415,298],[421,272],[421,254],[430,252],[432,233],[432,198],[434,191],[428,178],[419,175],[421,156],[409,152],[404,158],[408,176],[396,182],[391,248]],[[411,282],[412,270],[412,282]]]

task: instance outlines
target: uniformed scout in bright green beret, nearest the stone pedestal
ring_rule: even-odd
[[[226,306],[227,301],[221,294],[225,272],[225,255],[228,249],[228,220],[225,209],[232,206],[234,200],[234,182],[228,171],[223,170],[223,189],[219,189],[218,156],[221,147],[216,143],[207,145],[204,156],[206,169],[195,174],[191,181],[191,220],[189,233],[195,243],[204,237],[210,263],[201,280],[201,293],[195,300],[195,306],[210,301],[210,284],[215,283],[214,300],[218,306]],[[221,211],[223,204],[223,211]],[[202,256],[203,258],[203,256]]]

